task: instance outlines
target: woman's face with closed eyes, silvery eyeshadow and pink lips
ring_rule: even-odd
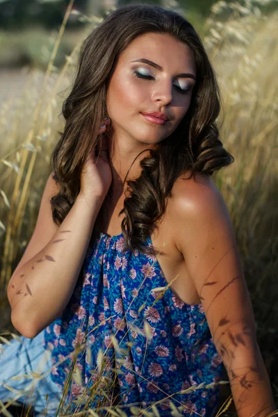
[[[108,85],[106,105],[115,135],[149,145],[170,136],[188,111],[195,76],[193,52],[183,42],[164,33],[133,40]],[[157,124],[142,115],[151,112],[165,113],[169,120]]]

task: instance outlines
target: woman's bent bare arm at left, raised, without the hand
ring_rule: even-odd
[[[103,202],[79,194],[60,227],[54,227],[49,202],[53,182],[47,181],[35,231],[7,290],[13,325],[28,338],[56,320],[70,301]]]

